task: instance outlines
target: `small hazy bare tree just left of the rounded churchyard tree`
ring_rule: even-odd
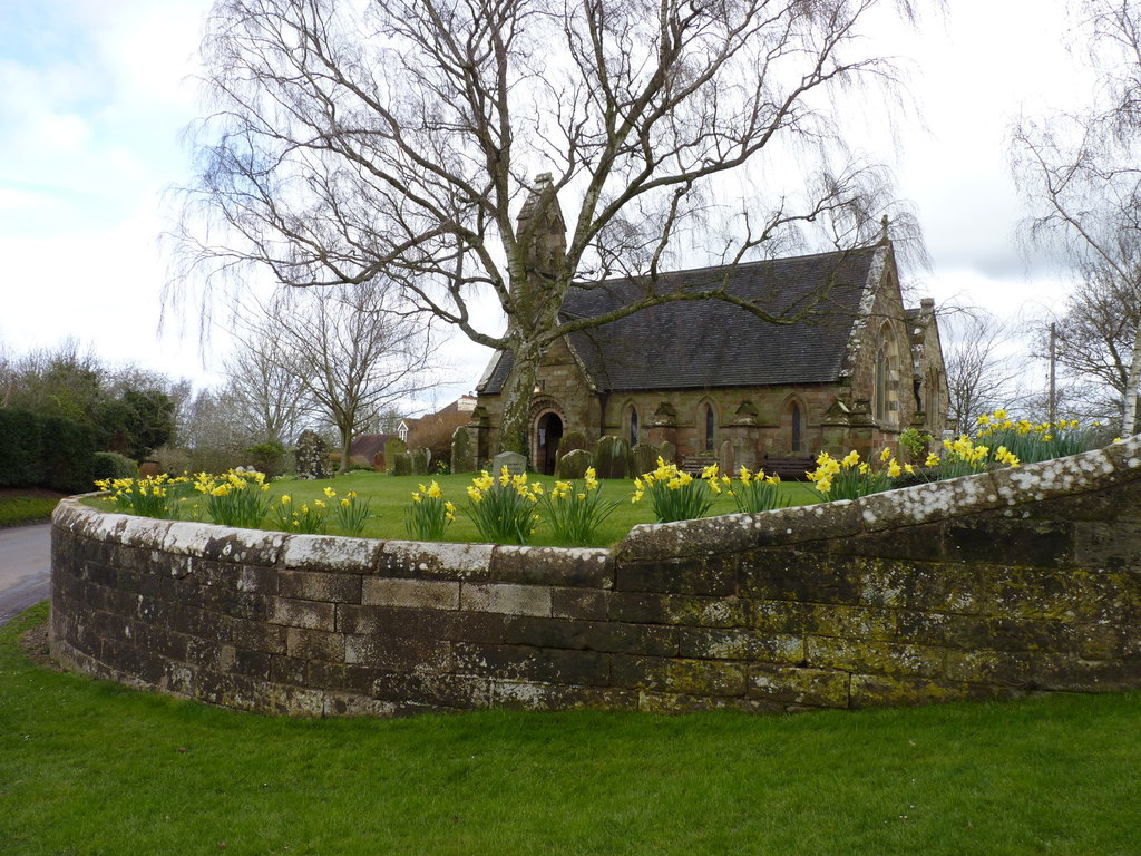
[[[286,350],[289,338],[283,340],[273,324],[256,324],[222,365],[228,397],[260,443],[292,443],[314,411]]]

